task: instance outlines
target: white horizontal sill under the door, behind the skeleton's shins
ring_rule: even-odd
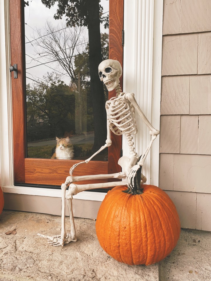
[[[46,189],[46,188],[35,188],[25,186],[4,186],[3,192],[16,193],[16,194],[27,194],[36,196],[48,196],[48,197],[62,197],[61,189]],[[107,193],[103,192],[91,192],[82,191],[73,196],[75,199],[91,200],[91,201],[103,201]]]

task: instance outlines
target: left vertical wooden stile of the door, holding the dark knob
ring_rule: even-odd
[[[23,42],[21,2],[10,0],[10,41],[11,41],[11,64],[17,64],[18,78],[12,82],[12,107],[13,107],[13,155],[14,155],[14,177],[15,181],[24,182],[24,151],[25,151],[25,102],[23,88]]]

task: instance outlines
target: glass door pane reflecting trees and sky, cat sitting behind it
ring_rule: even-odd
[[[27,157],[87,159],[106,140],[108,91],[99,84],[96,27],[89,16],[88,24],[73,25],[67,1],[59,5],[56,1],[54,6],[52,1],[29,2],[25,8]],[[81,7],[74,2],[80,16]],[[57,18],[62,5],[66,10]],[[108,7],[109,1],[100,1],[103,60],[108,58]],[[87,11],[92,13],[89,7]],[[108,150],[93,160],[107,161]]]

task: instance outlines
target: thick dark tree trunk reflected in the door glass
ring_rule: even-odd
[[[89,65],[91,80],[91,96],[94,119],[94,145],[97,151],[106,141],[106,109],[103,83],[98,75],[98,65],[102,61],[101,34],[99,18],[99,0],[87,0],[88,31],[89,31]]]

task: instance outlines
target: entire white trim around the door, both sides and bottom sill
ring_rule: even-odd
[[[61,190],[14,186],[13,182],[13,134],[9,38],[9,6],[0,0],[0,185],[7,193],[61,197]],[[123,90],[134,92],[141,109],[152,125],[159,128],[160,80],[162,49],[163,1],[125,0],[125,47]],[[155,20],[154,20],[155,19]],[[154,27],[153,27],[154,23]],[[153,44],[154,32],[154,45]],[[153,58],[153,61],[152,61]],[[152,116],[151,116],[152,115]],[[139,118],[138,118],[139,119]],[[149,142],[147,128],[142,129],[138,120],[139,133],[135,136],[137,153],[141,153]],[[140,141],[141,140],[141,141]],[[154,141],[150,157],[145,161],[145,174],[151,183],[158,182],[159,140]],[[123,153],[129,155],[123,138]],[[149,180],[148,180],[149,182]],[[77,199],[102,201],[106,193],[84,191]]]

